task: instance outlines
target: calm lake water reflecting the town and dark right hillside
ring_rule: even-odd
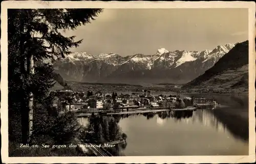
[[[183,95],[188,96],[188,95]],[[191,95],[189,95],[191,96]],[[215,110],[122,116],[125,156],[248,155],[248,95],[212,97]],[[87,118],[78,118],[87,125]]]

